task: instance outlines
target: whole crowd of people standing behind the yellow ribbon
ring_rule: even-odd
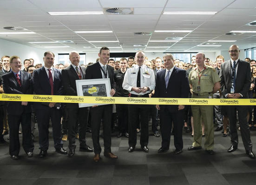
[[[33,59],[22,62],[19,56],[3,56],[0,63],[0,93],[69,95],[77,96],[76,80],[108,78],[111,96],[135,98],[196,98],[239,99],[256,97],[256,61],[239,59],[239,47],[230,46],[230,60],[223,56],[211,61],[203,53],[192,56],[191,63],[174,59],[171,54],[149,60],[143,51],[135,57],[110,59],[110,50],[102,47],[95,63],[80,64],[76,51],[69,54],[71,64],[54,64],[54,53],[44,53],[44,65]],[[236,120],[238,115],[238,120]],[[104,140],[105,157],[117,159],[111,151],[114,129],[117,137],[127,137],[128,152],[133,152],[140,132],[140,148],[149,152],[149,120],[152,132],[162,136],[158,153],[169,150],[171,135],[174,136],[174,154],[183,152],[183,130],[191,133],[193,143],[188,150],[202,148],[205,136],[206,153],[215,154],[214,131],[228,134],[231,146],[228,152],[237,149],[239,130],[246,154],[254,159],[250,129],[256,129],[256,106],[219,105],[94,105],[80,107],[78,103],[39,103],[0,101],[0,143],[7,144],[3,136],[9,134],[9,153],[19,159],[20,141],[27,157],[33,157],[34,128],[38,124],[39,157],[47,156],[49,148],[49,123],[53,128],[54,148],[59,154],[75,155],[76,139],[79,150],[94,152],[93,160],[100,160],[99,138]],[[21,131],[20,129],[21,124]],[[100,125],[103,132],[100,134]],[[216,128],[214,129],[214,124]],[[160,129],[159,129],[160,128]],[[158,129],[160,131],[158,131]],[[92,133],[93,148],[86,143],[86,132]],[[63,142],[68,140],[68,151]]]

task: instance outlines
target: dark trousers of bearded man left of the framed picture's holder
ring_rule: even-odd
[[[88,122],[89,108],[66,108],[68,123],[68,148],[76,148],[77,122],[79,122],[79,142],[81,147],[86,146],[85,135]]]

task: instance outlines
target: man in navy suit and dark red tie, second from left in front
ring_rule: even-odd
[[[54,54],[47,51],[44,54],[44,67],[33,71],[33,88],[35,94],[41,95],[62,95],[63,86],[61,82],[61,74],[58,69],[53,68]],[[39,131],[39,157],[43,158],[47,155],[49,147],[49,121],[51,118],[53,125],[53,141],[56,152],[67,154],[67,151],[62,148],[61,141],[61,113],[59,103],[35,103],[38,131]]]

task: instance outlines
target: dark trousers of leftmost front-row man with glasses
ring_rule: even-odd
[[[31,137],[31,113],[21,115],[8,115],[10,144],[10,155],[19,155],[20,139],[19,128],[22,128],[22,147],[26,153],[33,152],[34,144]]]

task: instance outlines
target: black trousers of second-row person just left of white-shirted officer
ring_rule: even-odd
[[[128,132],[128,105],[116,104],[120,133]]]

